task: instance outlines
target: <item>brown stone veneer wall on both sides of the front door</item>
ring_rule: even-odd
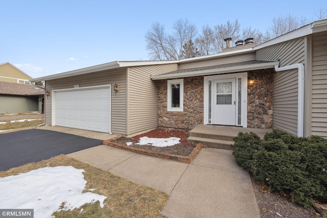
[[[247,89],[247,127],[272,128],[272,69],[248,72],[254,85]],[[167,111],[167,80],[157,81],[158,127],[192,130],[203,124],[203,77],[184,78],[184,111]]]

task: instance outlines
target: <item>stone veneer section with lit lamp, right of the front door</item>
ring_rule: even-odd
[[[272,128],[272,69],[248,72],[248,80],[254,79],[254,85],[247,89],[247,127]]]

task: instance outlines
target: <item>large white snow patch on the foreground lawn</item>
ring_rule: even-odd
[[[73,210],[107,198],[85,188],[83,169],[56,166],[0,178],[0,208],[34,209],[34,217],[52,217],[60,210]],[[64,204],[64,205],[63,205]],[[63,205],[63,206],[62,206]]]

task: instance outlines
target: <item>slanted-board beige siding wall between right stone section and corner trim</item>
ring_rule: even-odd
[[[255,60],[279,60],[280,67],[305,63],[305,41],[297,38],[264,47],[256,51]],[[273,85],[273,128],[297,135],[297,103],[297,69],[276,72]]]

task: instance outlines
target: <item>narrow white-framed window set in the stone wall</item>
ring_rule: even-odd
[[[167,111],[183,111],[183,79],[167,81]]]

